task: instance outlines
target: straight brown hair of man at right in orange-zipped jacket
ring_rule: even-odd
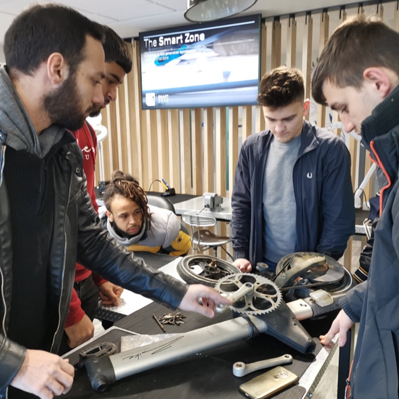
[[[363,72],[383,66],[399,76],[399,33],[375,17],[363,14],[348,18],[328,39],[312,78],[312,96],[325,104],[323,83],[338,87],[362,87]]]

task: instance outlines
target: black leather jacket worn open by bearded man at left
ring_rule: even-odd
[[[53,166],[54,227],[47,284],[50,301],[58,306],[58,319],[51,326],[53,353],[57,352],[64,329],[76,261],[117,285],[174,309],[188,288],[179,280],[146,266],[141,258],[125,251],[109,237],[87,194],[82,153],[72,135],[69,132],[65,135],[56,149]],[[7,339],[12,245],[7,188],[2,180],[6,140],[7,133],[0,130],[0,399],[6,397],[6,388],[20,369],[26,353],[25,348]],[[28,333],[29,326],[26,328]]]

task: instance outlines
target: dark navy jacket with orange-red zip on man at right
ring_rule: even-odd
[[[360,321],[352,367],[354,399],[399,397],[399,87],[362,123],[362,137],[387,178],[367,281],[340,300]]]

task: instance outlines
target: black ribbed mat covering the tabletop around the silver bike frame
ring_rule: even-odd
[[[134,317],[130,315],[116,324],[124,324],[125,328],[130,327],[142,334],[162,334],[161,329],[152,318],[153,313],[157,316],[162,316],[163,313],[169,313],[169,310],[161,305],[152,303],[136,312]],[[172,313],[175,314],[176,312]],[[230,318],[230,315],[227,313],[218,314],[215,319],[207,319],[189,312],[183,313],[187,316],[185,319],[187,324],[179,327],[167,325],[167,333],[190,331]],[[307,320],[302,323],[317,343],[316,351],[311,355],[300,354],[273,337],[261,334],[253,339],[240,340],[220,348],[190,356],[169,365],[127,377],[121,381],[117,381],[103,394],[97,394],[92,391],[86,371],[84,369],[79,370],[75,374],[73,388],[65,398],[242,399],[245,397],[238,391],[238,386],[266,372],[268,369],[238,378],[232,374],[233,363],[237,361],[251,363],[289,353],[294,360],[292,364],[284,365],[284,367],[300,377],[309,364],[315,360],[316,354],[322,347],[317,337],[327,331],[334,317],[335,314],[330,314],[322,320]],[[97,341],[114,342],[118,344],[119,348],[120,337],[123,335],[129,334],[123,331],[112,330]],[[93,344],[88,346],[91,345]],[[77,355],[71,357],[71,363],[75,363],[76,361]],[[294,385],[273,398],[297,399],[301,398],[304,394],[304,388]]]

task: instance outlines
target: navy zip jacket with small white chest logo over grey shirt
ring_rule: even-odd
[[[339,259],[355,232],[351,156],[338,136],[307,121],[301,137],[292,176],[295,251],[321,252]],[[235,170],[231,196],[234,257],[248,259],[253,266],[263,261],[262,185],[273,138],[269,130],[249,136],[242,144]],[[285,206],[283,198],[281,206]]]

